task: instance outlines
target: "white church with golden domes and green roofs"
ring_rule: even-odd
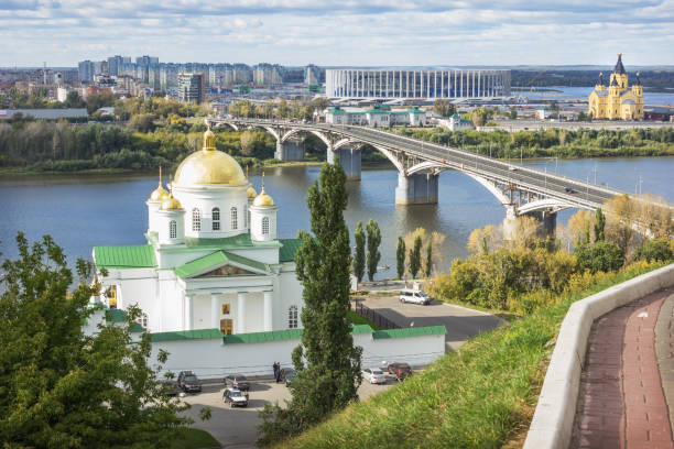
[[[278,207],[264,176],[258,195],[208,130],[203,150],[181,163],[170,186],[160,174],[146,200],[148,244],[94,248],[107,305],[137,305],[139,324],[153,333],[301,328],[294,263],[301,241],[276,238]]]

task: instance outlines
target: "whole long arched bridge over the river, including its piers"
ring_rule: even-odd
[[[438,175],[456,169],[472,177],[507,208],[507,220],[536,215],[554,226],[557,211],[566,208],[596,209],[620,190],[513,165],[463,150],[428,143],[366,127],[329,123],[217,118],[214,125],[233,129],[261,128],[276,139],[276,158],[302,158],[297,134],[313,133],[327,145],[328,161],[337,157],[351,179],[360,178],[360,147],[373,146],[398,168],[395,202],[433,204],[438,197]],[[294,154],[292,154],[294,153]]]

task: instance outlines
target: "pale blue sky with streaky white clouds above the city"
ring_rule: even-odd
[[[674,64],[674,0],[0,0],[0,66]]]

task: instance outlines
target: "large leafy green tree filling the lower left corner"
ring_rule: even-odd
[[[151,368],[150,335],[132,338],[140,309],[123,326],[95,336],[83,324],[104,311],[88,303],[99,285],[84,283],[91,265],[79,260],[80,283],[51,237],[29,244],[17,237],[18,260],[0,272],[0,440],[12,448],[165,448],[187,423]],[[166,361],[162,352],[159,361]]]

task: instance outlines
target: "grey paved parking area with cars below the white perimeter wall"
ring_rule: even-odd
[[[365,382],[358,390],[358,396],[363,399],[396,384],[398,382],[392,379],[389,379],[385,385],[371,385]],[[202,393],[187,395],[183,401],[192,405],[185,415],[194,419],[193,427],[208,431],[222,445],[222,448],[227,449],[254,448],[258,438],[256,427],[260,424],[258,412],[264,407],[264,404],[279,402],[283,405],[291,398],[283,383],[254,382],[250,390],[249,406],[230,408],[222,403],[222,385],[205,385]],[[211,417],[203,421],[198,416],[205,406],[210,407]]]

